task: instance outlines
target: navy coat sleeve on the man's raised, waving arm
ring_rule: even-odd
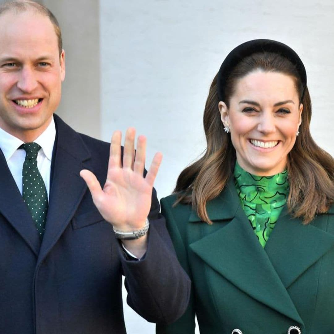
[[[121,263],[129,306],[147,321],[171,323],[187,308],[190,279],[177,260],[165,218],[159,211],[153,189],[147,252],[140,261],[121,256]]]

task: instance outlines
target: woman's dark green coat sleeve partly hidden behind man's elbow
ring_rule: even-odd
[[[161,200],[161,213],[166,217],[166,224],[168,232],[171,236],[174,248],[178,257],[178,260],[191,278],[191,271],[188,262],[188,256],[186,252],[185,243],[182,236],[183,232],[180,231],[178,225],[175,222],[174,215],[171,210],[171,203],[168,203],[166,199]],[[186,312],[181,318],[172,324],[157,324],[156,333],[158,334],[193,334],[195,331],[195,295],[193,292],[193,286],[191,288],[190,300]]]

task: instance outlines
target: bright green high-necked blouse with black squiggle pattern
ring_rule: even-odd
[[[264,247],[289,194],[287,170],[273,176],[256,176],[236,162],[233,175],[242,208]]]

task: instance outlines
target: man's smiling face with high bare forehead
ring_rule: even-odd
[[[65,55],[48,17],[0,15],[0,127],[24,142],[49,125],[61,97]]]

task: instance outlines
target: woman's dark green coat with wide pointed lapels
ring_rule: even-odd
[[[178,259],[192,280],[186,313],[157,333],[334,333],[334,208],[309,225],[284,208],[263,248],[249,224],[233,181],[207,203],[212,225],[190,205],[161,200]]]

